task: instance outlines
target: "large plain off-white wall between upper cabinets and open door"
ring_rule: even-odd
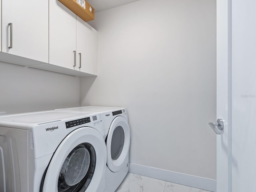
[[[140,0],[98,12],[98,77],[81,104],[126,106],[130,162],[216,178],[216,1]]]

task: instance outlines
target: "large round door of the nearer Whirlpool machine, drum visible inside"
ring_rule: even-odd
[[[105,168],[106,144],[100,132],[89,127],[78,128],[54,152],[42,192],[96,191]]]

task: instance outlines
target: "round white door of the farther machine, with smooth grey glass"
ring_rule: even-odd
[[[108,168],[117,172],[124,164],[130,148],[130,126],[124,117],[118,116],[112,121],[106,146]]]

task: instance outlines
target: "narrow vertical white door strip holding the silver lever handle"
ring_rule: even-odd
[[[217,192],[231,192],[231,0],[217,0]]]

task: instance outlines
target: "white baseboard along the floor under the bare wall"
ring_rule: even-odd
[[[172,183],[216,192],[216,180],[214,179],[198,177],[194,175],[188,175],[154,167],[147,167],[133,163],[129,164],[129,172]]]

